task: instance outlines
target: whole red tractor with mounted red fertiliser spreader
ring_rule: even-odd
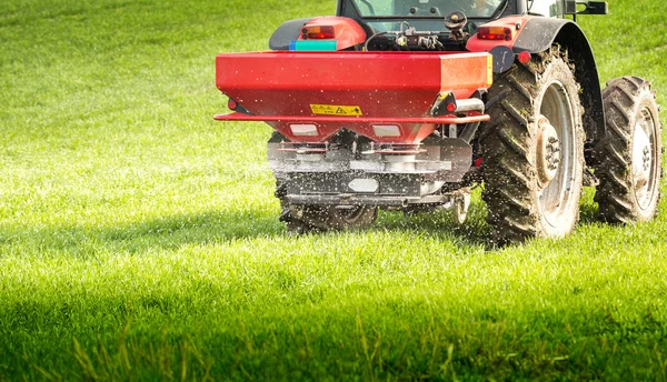
[[[574,0],[339,0],[285,22],[270,52],[217,57],[220,121],[265,121],[291,231],[374,222],[378,208],[454,210],[482,184],[498,242],[563,237],[596,187],[608,222],[647,221],[661,127],[649,82],[600,91]]]

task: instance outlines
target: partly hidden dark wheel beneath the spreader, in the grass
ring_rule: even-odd
[[[296,233],[306,233],[370,225],[378,215],[378,209],[370,205],[355,205],[350,208],[290,205],[288,213],[289,217],[282,219],[287,223],[287,230]]]

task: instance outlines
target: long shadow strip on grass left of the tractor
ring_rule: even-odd
[[[0,251],[30,255],[69,252],[94,258],[100,251],[135,254],[285,234],[273,211],[217,211],[118,227],[0,227]]]

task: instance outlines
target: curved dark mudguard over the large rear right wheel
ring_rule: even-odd
[[[539,53],[558,44],[567,49],[575,64],[575,78],[581,86],[584,129],[587,140],[598,141],[605,137],[605,111],[603,93],[595,58],[588,39],[575,22],[565,19],[530,18],[521,28],[514,44],[514,52]],[[591,159],[587,158],[587,162]],[[588,163],[591,164],[591,163]]]

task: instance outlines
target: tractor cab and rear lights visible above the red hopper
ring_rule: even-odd
[[[527,47],[521,50],[538,51],[554,42],[552,38],[569,21],[564,19],[575,21],[577,14],[605,13],[607,3],[604,1],[339,0],[336,17],[285,22],[271,37],[269,48],[275,51],[489,51],[498,46],[512,47],[520,28],[537,18],[531,22],[531,31],[525,33]],[[544,34],[538,33],[539,30],[544,30]],[[580,34],[579,31],[574,33]],[[468,44],[476,36],[494,43]],[[501,56],[507,58],[506,52]]]

